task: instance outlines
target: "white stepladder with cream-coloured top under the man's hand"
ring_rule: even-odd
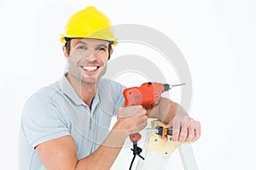
[[[151,127],[164,126],[162,122],[153,121]],[[168,138],[169,139],[169,138]],[[143,146],[143,157],[145,160],[139,160],[137,162],[137,170],[150,170],[150,169],[166,169],[168,163],[168,157],[171,156],[172,152],[178,147],[179,155],[183,162],[184,170],[197,170],[195,156],[189,143],[180,144],[168,140],[167,142],[162,141],[158,134],[151,133],[150,137],[145,141]],[[157,162],[157,163],[152,163]]]

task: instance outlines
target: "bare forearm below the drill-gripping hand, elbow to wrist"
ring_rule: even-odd
[[[107,139],[94,151],[90,156],[84,157],[79,160],[76,164],[76,170],[93,169],[103,170],[110,169],[113,162],[119,155],[119,151],[125,142],[128,135],[115,130],[113,127],[112,131],[108,134]]]

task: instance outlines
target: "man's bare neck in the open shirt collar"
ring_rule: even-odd
[[[96,94],[96,84],[84,83],[67,74],[67,80],[71,83],[76,93],[89,107],[92,104],[92,100]]]

